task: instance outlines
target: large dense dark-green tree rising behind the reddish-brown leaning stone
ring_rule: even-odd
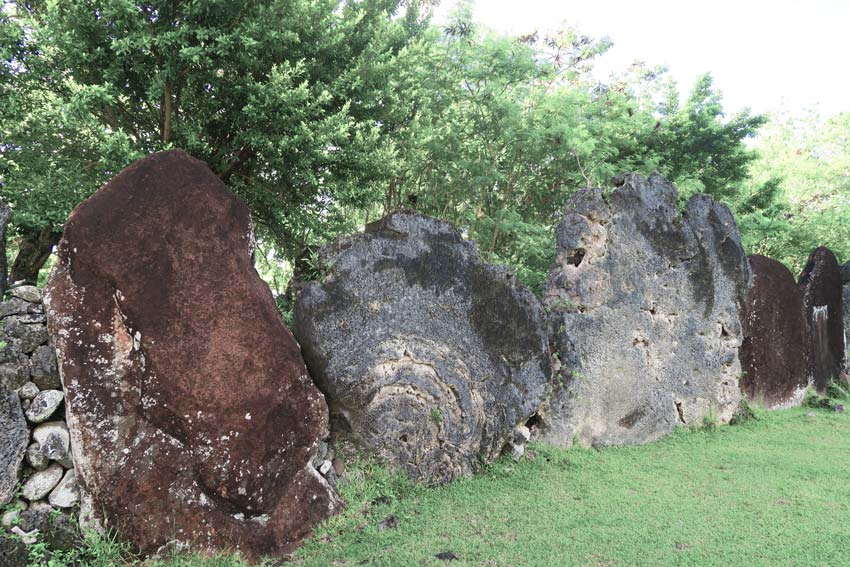
[[[181,147],[296,254],[379,200],[377,77],[420,35],[399,0],[16,2],[2,20],[0,197],[33,279],[71,208]],[[380,88],[378,88],[380,87]]]

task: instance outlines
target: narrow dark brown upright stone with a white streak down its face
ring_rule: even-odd
[[[815,389],[822,394],[844,367],[841,269],[835,254],[823,246],[816,248],[797,283],[809,326],[809,373]]]

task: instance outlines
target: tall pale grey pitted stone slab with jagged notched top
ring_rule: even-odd
[[[541,436],[643,443],[731,418],[741,398],[738,305],[749,266],[729,210],[695,195],[680,215],[660,175],[582,189],[557,229],[544,291],[561,387]]]

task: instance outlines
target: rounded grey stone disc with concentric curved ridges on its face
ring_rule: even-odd
[[[394,213],[321,250],[295,332],[351,438],[414,479],[496,456],[549,376],[542,309],[449,224]]]

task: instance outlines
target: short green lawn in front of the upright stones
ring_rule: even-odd
[[[850,413],[810,411],[759,411],[640,447],[532,446],[531,459],[435,489],[360,464],[346,510],[291,564],[446,565],[435,555],[451,551],[452,566],[847,565]],[[373,502],[382,496],[391,502]],[[380,530],[391,514],[398,526]]]

